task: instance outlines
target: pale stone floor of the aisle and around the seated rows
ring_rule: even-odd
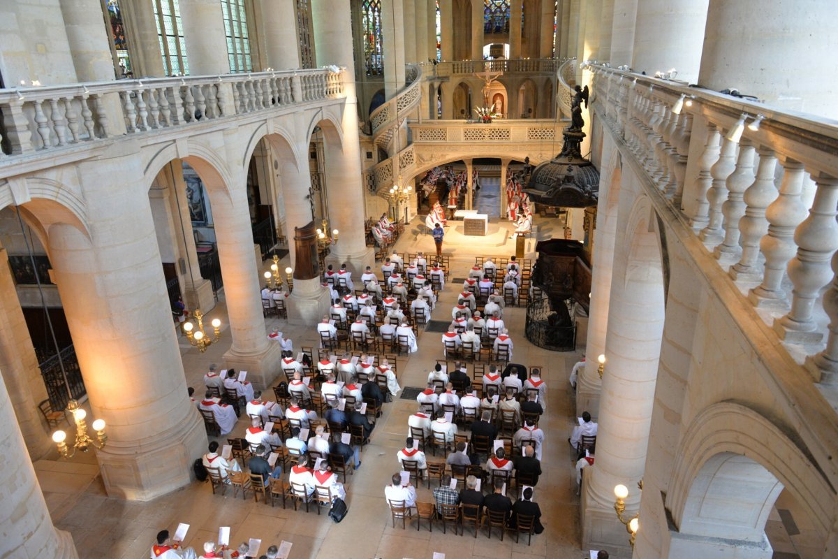
[[[397,250],[431,251],[432,240],[427,235],[406,235],[398,243]],[[504,247],[481,249],[484,256],[510,256],[510,250],[511,242]],[[452,255],[452,277],[464,276],[473,263],[473,249],[470,250],[466,243],[449,242],[445,251]],[[459,287],[447,284],[432,318],[450,320],[450,309],[456,302]],[[222,300],[209,316],[215,318],[217,315],[225,320],[225,314]],[[529,344],[523,336],[523,308],[507,308],[504,320],[515,341],[515,362],[543,365],[549,387],[549,413],[541,424],[548,437],[542,460],[544,475],[535,492],[546,529],[543,534],[533,536],[531,546],[525,540],[515,543],[510,534],[501,542],[497,531],[489,539],[485,530],[477,538],[468,532],[465,536],[443,535],[440,524],[434,525],[433,532],[429,532],[427,522],[417,531],[416,520],[406,530],[402,530],[400,525],[396,525],[395,529],[392,527],[383,498],[384,486],[398,469],[396,452],[404,444],[406,417],[416,409],[412,401],[399,398],[385,404],[371,444],[364,448],[361,455],[363,465],[348,477],[349,515],[340,524],[334,524],[324,513],[318,516],[314,509],[308,513],[304,510],[295,512],[290,506],[283,510],[280,505],[272,507],[261,500],[255,503],[250,495],[246,499],[241,499],[241,495],[234,499],[229,490],[225,496],[213,495],[209,484],[199,482],[151,502],[111,499],[104,492],[92,453],[66,462],[46,459],[35,464],[54,523],[60,529],[70,531],[83,559],[145,559],[155,534],[163,528],[173,531],[178,522],[191,525],[186,543],[196,550],[202,542],[214,541],[219,526],[225,525],[231,528],[231,541],[261,539],[262,552],[272,543],[290,541],[293,544],[290,557],[294,559],[333,556],[348,559],[430,559],[434,552],[457,559],[587,557],[587,551],[579,548],[579,498],[576,495],[572,456],[564,442],[577,415],[567,375],[580,357],[582,345],[576,352],[554,353]],[[275,326],[293,339],[295,349],[300,345],[317,344],[313,326],[290,326],[277,319],[266,321],[266,329]],[[210,346],[204,354],[199,354],[197,349],[185,343],[185,339],[183,341],[181,351],[188,385],[200,390],[207,366],[215,362],[223,367],[221,355],[229,347],[229,338]],[[419,352],[398,362],[401,386],[422,386],[427,371],[437,358],[442,357],[441,347],[440,334],[421,334]],[[243,435],[245,428],[246,420],[241,419],[234,432]],[[428,458],[434,459],[431,455]],[[437,459],[443,458],[440,456]],[[432,501],[427,485],[418,489],[418,500]],[[778,526],[784,524],[776,523],[780,520],[776,512],[772,519],[775,524],[769,522],[769,525],[777,534]],[[805,526],[801,526],[801,532],[804,529]],[[802,540],[798,537],[798,541]],[[794,546],[794,538],[789,538],[789,545],[790,549],[784,547],[779,551],[794,551],[800,557],[808,556],[800,546]]]

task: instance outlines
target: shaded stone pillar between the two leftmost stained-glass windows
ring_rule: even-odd
[[[134,77],[162,77],[163,54],[160,52],[154,8],[146,0],[122,0],[119,3],[124,18],[125,36],[131,52]]]

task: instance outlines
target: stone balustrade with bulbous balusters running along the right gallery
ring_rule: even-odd
[[[593,110],[660,199],[813,380],[838,383],[838,123],[592,70]]]

